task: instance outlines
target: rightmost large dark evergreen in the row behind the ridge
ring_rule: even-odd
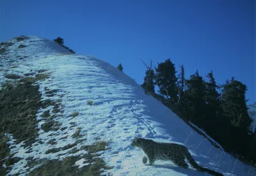
[[[246,85],[232,77],[222,87],[223,117],[230,125],[229,142],[225,145],[229,145],[235,153],[246,156],[252,141],[252,119],[248,115],[245,99]],[[248,159],[248,156],[246,158]]]

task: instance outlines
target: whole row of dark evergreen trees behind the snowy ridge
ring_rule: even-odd
[[[145,64],[145,62],[143,62]],[[185,78],[170,59],[147,66],[141,87],[146,94],[159,99],[188,124],[192,122],[220,143],[223,149],[244,163],[256,163],[256,132],[248,115],[246,85],[234,77],[217,84],[213,72],[203,78],[198,70]],[[159,91],[155,91],[155,86]]]

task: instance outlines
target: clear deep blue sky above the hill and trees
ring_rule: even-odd
[[[35,35],[64,38],[77,54],[117,66],[141,84],[145,66],[170,58],[186,77],[213,71],[220,84],[235,77],[256,100],[253,0],[1,0],[1,41]]]

